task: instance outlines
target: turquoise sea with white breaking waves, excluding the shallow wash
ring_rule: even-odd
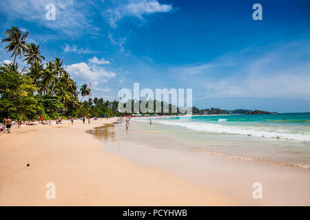
[[[154,118],[154,122],[206,133],[229,133],[310,141],[310,113],[205,115]]]

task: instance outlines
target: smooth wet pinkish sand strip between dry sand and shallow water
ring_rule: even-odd
[[[90,132],[105,142],[107,153],[173,173],[242,205],[310,205],[309,169],[218,157],[180,148],[180,144],[172,147],[167,142],[156,142],[156,134],[137,130],[135,123],[131,122],[128,133],[123,131],[123,124],[99,127]],[[252,186],[256,182],[262,184],[262,199],[253,199],[255,188]]]

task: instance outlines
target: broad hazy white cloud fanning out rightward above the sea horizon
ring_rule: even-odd
[[[229,53],[203,64],[170,69],[201,98],[310,99],[310,42]],[[190,78],[190,81],[188,80]]]

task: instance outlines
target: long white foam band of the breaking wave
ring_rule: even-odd
[[[270,129],[270,128],[254,128],[251,126],[228,126],[223,124],[213,124],[206,122],[190,122],[190,121],[172,121],[172,120],[154,120],[154,122],[172,126],[181,126],[194,131],[203,131],[207,133],[227,133],[237,135],[251,135],[255,137],[273,137],[298,141],[310,141],[310,133],[292,133],[289,130]]]

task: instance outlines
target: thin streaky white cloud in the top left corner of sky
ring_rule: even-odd
[[[48,3],[53,3],[56,8],[56,20],[47,20],[45,17]],[[52,30],[74,36],[88,32],[96,32],[98,29],[92,26],[92,21],[87,18],[87,2],[74,0],[1,0],[0,14],[8,21],[32,21]]]

